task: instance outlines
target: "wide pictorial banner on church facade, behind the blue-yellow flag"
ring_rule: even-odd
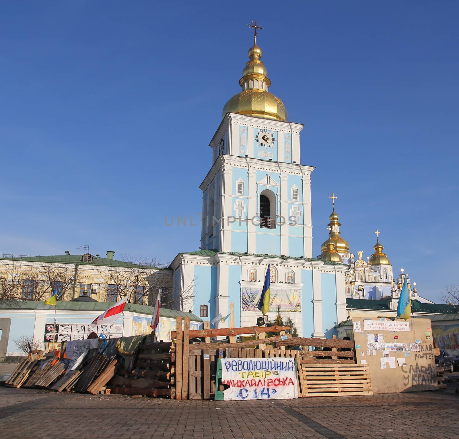
[[[242,309],[244,311],[259,311],[257,308],[261,296],[260,288],[242,288]],[[291,290],[283,288],[274,288],[271,284],[271,295],[269,303],[269,311],[283,313],[299,313],[301,312],[301,290]]]

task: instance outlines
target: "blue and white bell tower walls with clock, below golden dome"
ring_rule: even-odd
[[[312,257],[314,168],[300,164],[302,127],[224,116],[210,142],[213,164],[200,186],[202,250],[180,253],[171,264],[174,291],[189,297],[182,309],[212,321],[229,314],[233,302],[235,327],[255,325],[269,265],[269,320],[280,306],[299,335],[330,337],[347,318],[347,266]],[[228,325],[229,319],[218,327]]]

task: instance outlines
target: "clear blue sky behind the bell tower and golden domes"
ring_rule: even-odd
[[[247,13],[245,9],[257,10]],[[457,1],[21,1],[0,16],[0,252],[197,250],[207,146],[258,43],[342,236],[436,300],[458,279]]]

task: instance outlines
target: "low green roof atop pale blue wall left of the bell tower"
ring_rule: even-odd
[[[59,311],[105,311],[112,305],[113,302],[57,302],[56,309]],[[0,309],[13,310],[13,309],[51,309],[54,310],[54,305],[45,305],[45,302],[39,300],[11,300],[0,302]],[[153,314],[154,307],[148,305],[139,305],[137,303],[126,303],[124,308],[134,313],[141,313],[151,315]],[[189,317],[190,320],[195,322],[202,322],[202,319],[193,313],[184,313],[176,309],[168,309],[159,307],[159,315],[161,317]]]

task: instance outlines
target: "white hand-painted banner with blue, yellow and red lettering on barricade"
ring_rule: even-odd
[[[225,401],[298,398],[294,358],[224,358]]]

